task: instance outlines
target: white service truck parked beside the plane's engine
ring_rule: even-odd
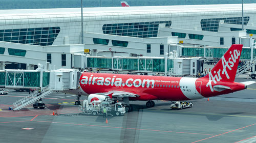
[[[79,105],[78,109],[87,115],[103,115],[103,108],[105,107],[108,115],[124,115],[124,105],[122,103],[111,104],[111,102],[112,101],[96,100],[89,103],[88,100],[83,100],[83,105]]]

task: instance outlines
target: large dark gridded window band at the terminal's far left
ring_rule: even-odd
[[[52,45],[60,27],[0,30],[0,41],[47,46]]]

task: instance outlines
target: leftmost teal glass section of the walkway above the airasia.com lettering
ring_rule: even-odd
[[[111,58],[87,58],[88,68],[112,68]]]

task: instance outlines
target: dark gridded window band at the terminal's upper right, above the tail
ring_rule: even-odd
[[[249,19],[250,19],[249,16],[244,16],[244,25],[247,25]],[[220,20],[224,20],[224,23],[228,23],[228,24],[240,24],[240,25],[242,25],[242,17],[201,19],[202,31],[218,32],[219,31]]]

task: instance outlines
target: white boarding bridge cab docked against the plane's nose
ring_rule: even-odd
[[[49,87],[52,90],[75,90],[77,89],[78,70],[59,69],[51,71]]]

